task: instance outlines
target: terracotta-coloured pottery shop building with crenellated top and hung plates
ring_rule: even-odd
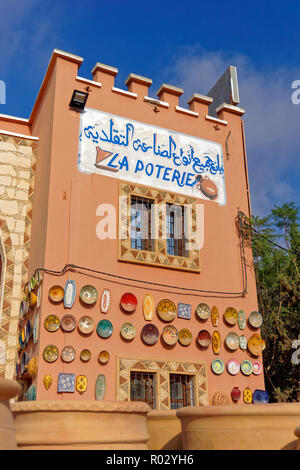
[[[1,374],[162,410],[264,389],[243,109],[82,61],[55,50],[29,119],[0,116]]]

